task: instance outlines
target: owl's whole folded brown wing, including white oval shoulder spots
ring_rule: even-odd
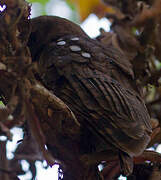
[[[104,142],[138,155],[150,141],[150,117],[143,100],[109,76],[111,58],[104,51],[97,43],[80,43],[79,37],[54,41],[40,57],[41,74],[80,124]],[[130,69],[126,73],[132,76]]]

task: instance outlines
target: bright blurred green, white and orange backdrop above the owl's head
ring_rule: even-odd
[[[40,15],[67,18],[80,24],[91,37],[96,37],[100,28],[109,30],[109,21],[99,16],[99,11],[102,12],[101,8],[98,10],[98,16],[95,15],[95,8],[100,6],[100,0],[29,0],[29,2],[32,3],[31,18]]]

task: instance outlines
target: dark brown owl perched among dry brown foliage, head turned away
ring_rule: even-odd
[[[132,65],[116,49],[89,38],[70,21],[44,16],[31,24],[32,58],[39,62],[44,85],[80,122],[82,153],[118,149],[128,174],[132,168],[126,167],[126,160],[143,152],[151,132]]]

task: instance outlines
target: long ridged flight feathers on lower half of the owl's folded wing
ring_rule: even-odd
[[[95,84],[104,84],[106,88],[103,91],[101,91],[102,87],[100,85],[96,90],[96,86],[93,87],[89,78],[77,76],[75,81],[72,76],[68,80],[73,92],[80,97],[81,103],[88,112],[81,119],[83,122],[90,123],[91,127],[93,127],[92,125],[97,127],[97,129],[94,129],[97,134],[101,134],[104,140],[127,153],[139,154],[145,149],[150,141],[147,134],[147,131],[150,131],[150,125],[147,126],[149,116],[145,115],[148,112],[142,102],[134,95],[128,94],[122,87],[117,86],[118,84],[111,83],[109,78],[105,78],[106,81],[93,78]],[[83,89],[81,88],[82,85]],[[120,100],[121,98],[124,100]],[[76,101],[77,99],[75,103]],[[83,110],[80,110],[80,116],[82,112]],[[77,112],[74,113],[77,114]],[[95,118],[92,118],[93,116]]]

